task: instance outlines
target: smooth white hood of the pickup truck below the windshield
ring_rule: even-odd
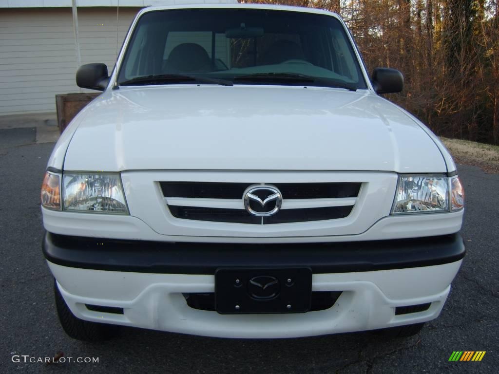
[[[447,171],[421,126],[367,90],[121,87],[82,114],[65,170]]]

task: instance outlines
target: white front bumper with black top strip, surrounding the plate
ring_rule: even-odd
[[[465,254],[459,234],[426,242],[358,242],[356,248],[354,243],[232,245],[232,253],[224,245],[138,242],[135,251],[131,245],[46,235],[48,265],[76,317],[229,338],[302,337],[426,322],[440,314]],[[310,266],[312,292],[342,294],[331,308],[304,314],[220,315],[188,306],[183,293],[213,293],[215,268],[235,265]],[[397,307],[426,303],[430,307],[421,312],[395,313]],[[122,308],[123,314],[85,305]]]

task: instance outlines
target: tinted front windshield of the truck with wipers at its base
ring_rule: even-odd
[[[335,17],[249,8],[144,13],[127,46],[118,84],[200,82],[366,88]]]

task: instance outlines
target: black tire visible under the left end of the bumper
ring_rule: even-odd
[[[54,279],[55,307],[64,332],[71,338],[85,342],[102,342],[115,337],[119,327],[76,318],[62,297]]]

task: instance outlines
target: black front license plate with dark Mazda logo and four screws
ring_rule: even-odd
[[[215,308],[221,314],[305,313],[310,309],[310,268],[220,268]]]

